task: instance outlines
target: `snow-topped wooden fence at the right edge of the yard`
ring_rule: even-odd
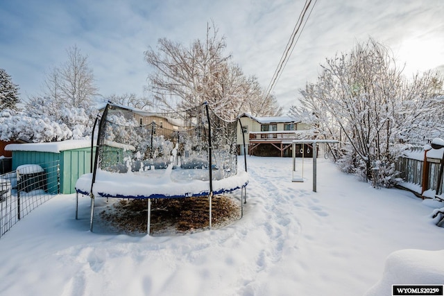
[[[396,170],[402,178],[400,186],[414,191],[422,198],[434,198],[436,185],[438,184],[439,169],[443,149],[428,150],[412,148],[407,150],[396,163]],[[438,195],[443,194],[443,177],[439,180],[440,189]]]

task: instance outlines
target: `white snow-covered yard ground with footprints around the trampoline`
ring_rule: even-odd
[[[396,259],[411,254],[427,259],[419,270],[443,262],[443,252],[404,250],[444,245],[432,208],[412,193],[373,189],[323,158],[314,193],[311,159],[303,183],[291,182],[289,158],[247,160],[244,218],[185,236],[91,233],[89,199],[80,198],[75,220],[75,195],[56,196],[0,238],[0,294],[363,295],[387,257],[398,270]],[[388,275],[372,295],[402,284]]]

